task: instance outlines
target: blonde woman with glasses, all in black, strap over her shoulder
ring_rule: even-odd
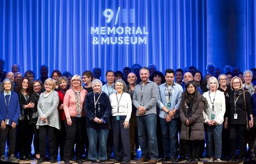
[[[245,159],[246,141],[245,128],[246,117],[250,120],[249,126],[253,127],[253,111],[251,107],[250,93],[243,90],[243,83],[237,76],[233,77],[230,82],[231,92],[229,94],[229,115],[225,121],[225,128],[229,126],[230,129],[230,149],[231,158],[228,161],[236,161],[236,136],[239,141],[239,163]]]

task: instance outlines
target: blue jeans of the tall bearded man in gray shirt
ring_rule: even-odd
[[[136,121],[141,156],[146,158],[148,152],[150,159],[157,159],[157,115],[152,113],[137,116]]]

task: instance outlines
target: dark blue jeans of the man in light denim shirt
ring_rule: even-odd
[[[160,118],[160,124],[163,135],[163,153],[164,156],[169,157],[169,153],[175,157],[175,152],[177,150],[177,126],[178,126],[178,118],[172,119],[170,122],[166,122],[164,118]]]

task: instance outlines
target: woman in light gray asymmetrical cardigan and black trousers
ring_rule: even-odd
[[[39,127],[39,147],[40,158],[37,163],[45,162],[46,137],[48,136],[51,163],[56,162],[56,138],[55,128],[60,129],[60,119],[58,115],[58,92],[54,91],[55,81],[48,78],[44,81],[45,92],[41,93],[38,101],[38,121]]]

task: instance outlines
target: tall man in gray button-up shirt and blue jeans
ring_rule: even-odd
[[[147,67],[140,69],[141,82],[135,86],[133,94],[133,104],[136,107],[136,121],[138,128],[138,138],[141,149],[141,158],[137,163],[148,161],[157,162],[157,83],[150,81]]]

